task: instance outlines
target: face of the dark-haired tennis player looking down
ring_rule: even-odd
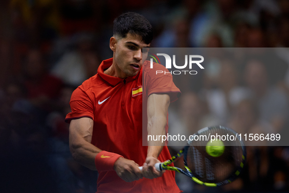
[[[118,77],[136,75],[142,67],[142,58],[148,56],[151,44],[144,43],[141,36],[131,33],[125,38],[116,38],[116,41],[114,62]]]

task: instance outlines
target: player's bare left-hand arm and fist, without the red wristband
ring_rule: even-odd
[[[71,120],[69,125],[69,147],[73,158],[77,162],[89,169],[97,170],[95,157],[102,150],[91,144],[92,131],[92,119],[84,117]],[[126,182],[142,178],[138,164],[133,160],[120,157],[114,162],[113,169]]]

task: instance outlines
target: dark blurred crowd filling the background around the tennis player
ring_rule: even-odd
[[[112,57],[112,22],[127,11],[151,22],[152,47],[275,50],[266,61],[212,59],[198,76],[174,79],[182,96],[170,127],[222,124],[287,137],[289,0],[1,0],[0,192],[95,192],[97,172],[73,161],[64,119],[73,90]],[[243,177],[215,191],[289,191],[288,147],[247,151]]]

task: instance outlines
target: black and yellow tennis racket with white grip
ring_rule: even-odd
[[[206,152],[206,145],[211,136],[231,136],[222,140],[224,150],[222,155],[213,157]],[[206,136],[206,137],[204,137]],[[201,140],[201,139],[207,140]],[[198,140],[197,140],[198,139]],[[212,138],[213,139],[213,138]],[[219,140],[219,138],[217,137]],[[183,156],[184,169],[169,166]],[[178,171],[200,185],[218,187],[235,180],[244,167],[246,149],[238,134],[230,128],[211,126],[200,129],[190,137],[188,143],[171,159],[156,163],[156,170]],[[142,169],[142,167],[139,167]]]

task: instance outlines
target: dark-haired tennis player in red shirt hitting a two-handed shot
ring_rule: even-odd
[[[151,69],[149,61],[142,63],[148,55],[142,50],[152,39],[152,26],[143,16],[120,15],[110,39],[113,57],[71,96],[72,112],[66,117],[70,150],[80,164],[98,170],[98,193],[181,192],[174,172],[154,167],[170,158],[167,146],[142,145],[143,123],[144,136],[166,134],[169,104],[180,94],[170,73],[155,75],[156,70],[165,70],[162,65]]]

